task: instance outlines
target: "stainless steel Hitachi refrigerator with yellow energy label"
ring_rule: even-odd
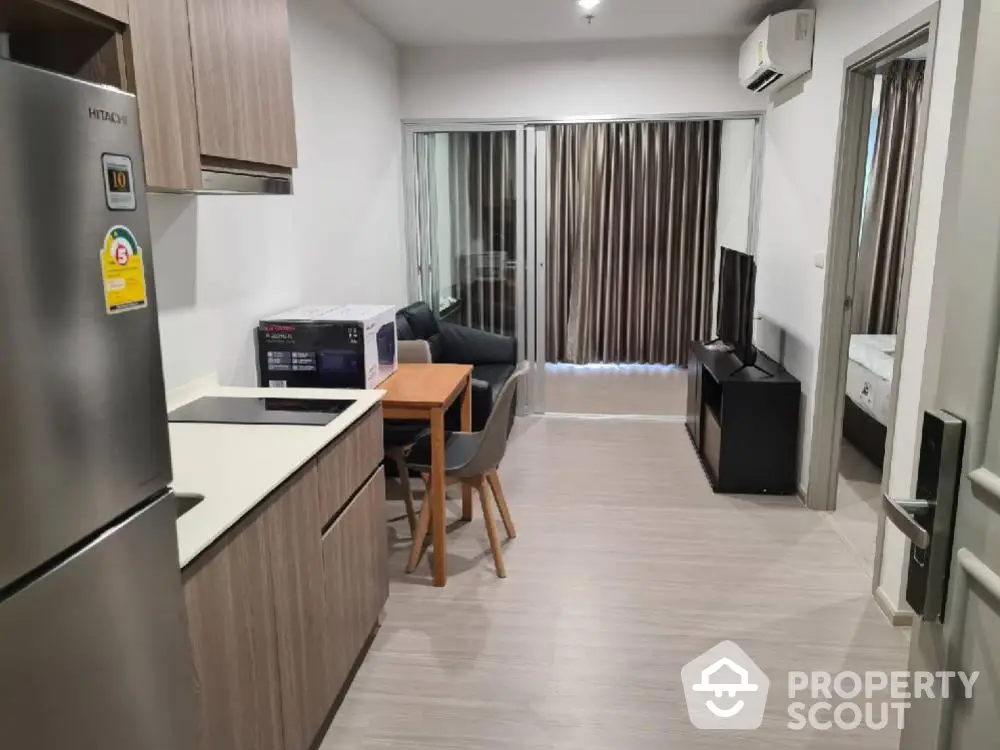
[[[0,60],[0,747],[187,750],[134,97]]]

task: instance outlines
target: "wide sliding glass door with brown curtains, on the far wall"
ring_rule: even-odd
[[[718,247],[756,245],[755,119],[406,125],[411,299],[517,337],[522,413],[605,413],[583,368],[674,393],[711,338]]]

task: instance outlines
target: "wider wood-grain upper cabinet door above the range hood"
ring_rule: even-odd
[[[286,0],[188,0],[188,12],[201,153],[297,166]]]

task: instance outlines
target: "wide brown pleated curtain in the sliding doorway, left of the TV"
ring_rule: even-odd
[[[721,133],[550,129],[548,361],[681,364],[709,338]]]

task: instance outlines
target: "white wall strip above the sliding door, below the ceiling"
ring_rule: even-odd
[[[760,111],[739,39],[404,48],[404,119],[558,119]]]

